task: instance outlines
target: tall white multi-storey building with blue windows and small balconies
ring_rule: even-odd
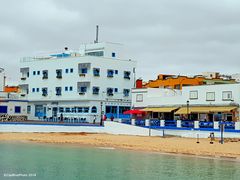
[[[120,118],[131,106],[136,62],[123,59],[122,45],[94,43],[21,60],[21,96],[29,101],[29,119],[95,116]]]

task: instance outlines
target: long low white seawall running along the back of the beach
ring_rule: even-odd
[[[0,123],[0,132],[86,132],[137,136],[172,135],[188,138],[197,138],[197,136],[199,136],[199,138],[208,138],[210,133],[212,133],[212,131],[200,130],[149,129],[111,121],[105,121],[104,127],[97,125]],[[214,131],[213,133],[215,137],[221,137],[220,131]],[[224,137],[240,138],[240,132],[224,132]]]

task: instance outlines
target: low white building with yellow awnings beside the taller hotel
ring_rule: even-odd
[[[240,84],[185,86],[182,90],[164,88],[132,89],[133,108],[151,112],[152,118],[240,120]],[[187,117],[185,117],[187,118]]]

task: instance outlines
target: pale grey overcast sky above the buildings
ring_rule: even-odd
[[[0,67],[17,82],[21,57],[100,41],[125,45],[137,77],[240,72],[239,0],[1,0]]]

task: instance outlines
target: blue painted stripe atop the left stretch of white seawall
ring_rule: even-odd
[[[88,126],[88,127],[103,127],[100,125],[90,124],[36,124],[36,123],[21,123],[21,122],[0,122],[0,125],[32,125],[32,126]]]

